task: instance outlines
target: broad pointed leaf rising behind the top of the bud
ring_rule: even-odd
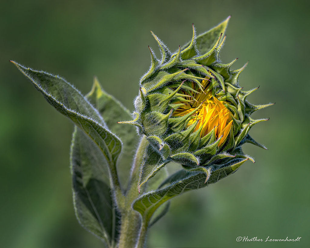
[[[221,33],[223,33],[222,37],[224,37],[224,33],[228,24],[230,16],[219,25],[210,29],[209,31],[202,33],[197,36],[196,46],[200,54],[205,54],[212,49],[212,47],[217,42]]]

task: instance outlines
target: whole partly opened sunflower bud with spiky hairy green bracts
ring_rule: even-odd
[[[230,70],[219,60],[228,17],[206,33],[171,53],[152,32],[158,42],[161,59],[149,47],[151,66],[140,79],[135,99],[134,120],[121,122],[137,127],[153,150],[161,157],[161,165],[173,161],[185,170],[201,170],[210,176],[211,168],[230,165],[244,158],[241,150],[249,142],[265,148],[248,132],[256,123],[250,115],[272,104],[253,105],[246,97],[258,88],[244,91],[238,78],[247,63]],[[153,175],[152,175],[153,176]]]

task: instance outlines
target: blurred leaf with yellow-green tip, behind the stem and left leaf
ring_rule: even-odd
[[[117,99],[103,90],[97,78],[94,79],[93,87],[86,97],[99,111],[111,132],[123,142],[122,156],[117,163],[117,175],[124,185],[128,181],[134,148],[137,147],[139,136],[134,126],[117,122],[130,120],[132,116]]]

